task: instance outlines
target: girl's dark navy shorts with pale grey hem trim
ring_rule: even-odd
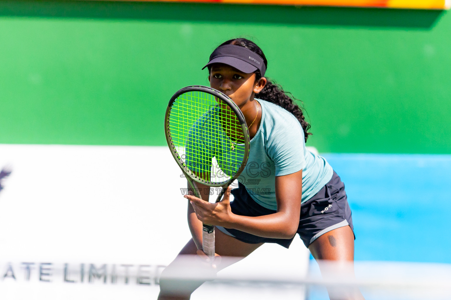
[[[242,184],[239,184],[238,188],[233,189],[231,193],[235,197],[235,200],[230,203],[230,206],[232,212],[236,215],[257,217],[276,212],[276,210],[267,209],[255,202]],[[318,193],[301,204],[301,215],[297,233],[305,246],[308,247],[322,234],[348,225],[354,231],[351,209],[345,192],[345,184],[341,182],[340,176],[334,171],[332,179]],[[216,228],[241,242],[250,244],[277,243],[288,248],[295,238],[259,237],[237,229],[229,229],[221,226],[216,226]]]

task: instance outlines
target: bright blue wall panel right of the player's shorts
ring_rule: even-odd
[[[451,263],[451,155],[323,155],[345,183],[355,260]]]

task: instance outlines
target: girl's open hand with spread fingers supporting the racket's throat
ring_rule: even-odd
[[[196,212],[196,216],[204,224],[212,224],[217,226],[228,227],[232,223],[233,213],[230,208],[230,190],[227,188],[226,193],[221,201],[210,203],[193,195],[185,195]]]

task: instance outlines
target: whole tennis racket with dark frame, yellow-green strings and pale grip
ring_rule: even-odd
[[[177,91],[165,116],[166,141],[175,161],[201,198],[195,182],[221,187],[216,199],[243,171],[249,157],[249,131],[239,107],[225,94],[194,85]],[[202,248],[215,255],[215,233],[203,224]]]

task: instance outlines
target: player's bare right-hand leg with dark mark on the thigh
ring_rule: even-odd
[[[323,234],[308,246],[308,250],[318,261],[323,276],[326,270],[324,266],[322,267],[321,260],[345,262],[348,268],[343,269],[343,272],[352,272],[347,275],[354,276],[354,267],[349,270],[349,264],[351,266],[354,264],[354,234],[349,226],[336,228]],[[345,295],[343,295],[343,291],[336,293],[328,289],[328,292],[331,300],[364,300],[364,296],[358,289],[346,291]]]

